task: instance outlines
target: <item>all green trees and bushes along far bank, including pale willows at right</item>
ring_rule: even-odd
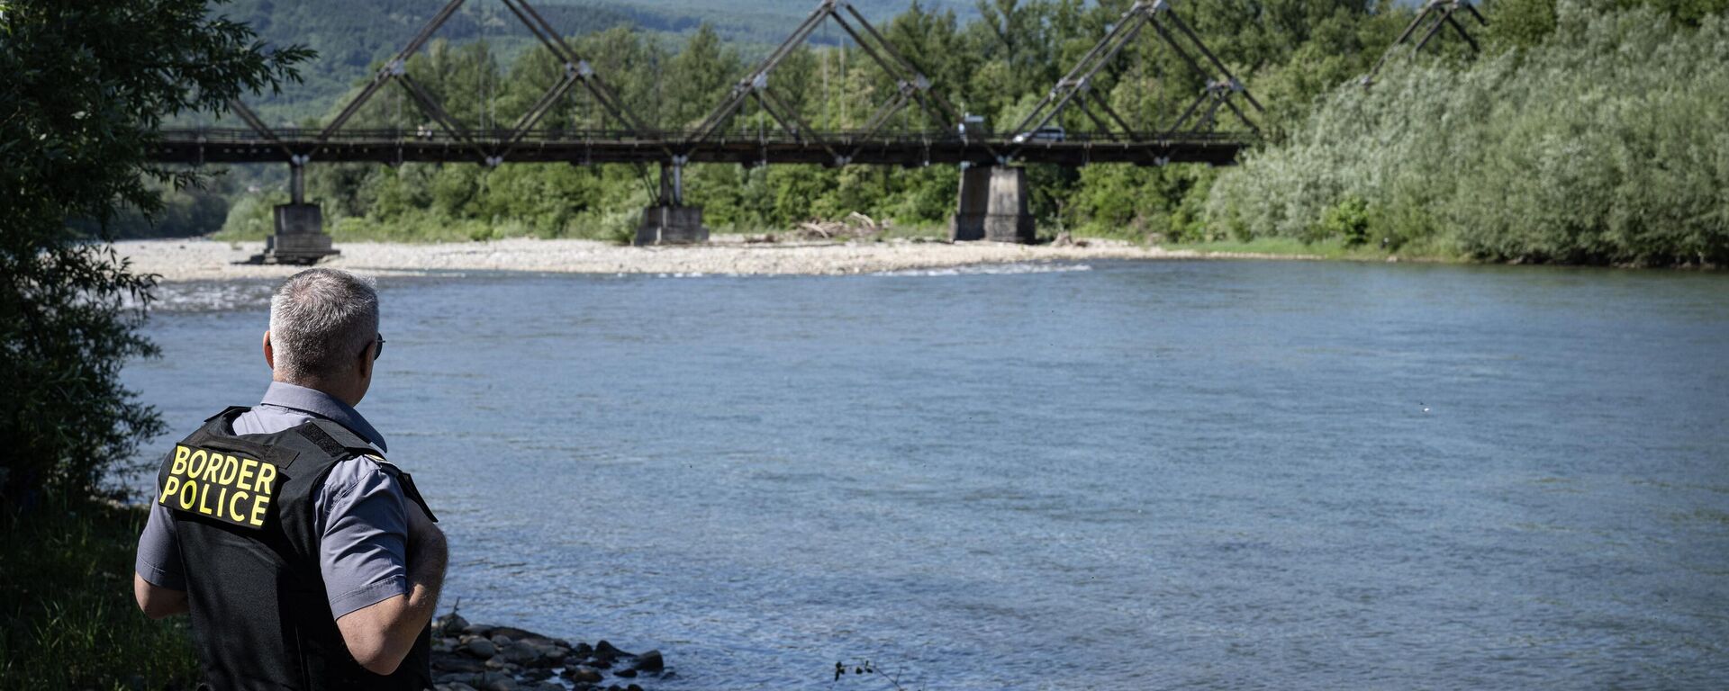
[[[358,5],[380,3],[392,7],[384,0]],[[778,40],[787,28],[776,22],[790,26],[806,10],[737,16],[780,26],[764,36],[738,33],[718,17],[735,5],[742,3],[654,0],[638,12],[679,19],[612,22],[595,14],[560,26],[579,28],[579,52],[593,57],[633,112],[678,130],[700,121],[764,43]],[[866,9],[878,16],[890,5]],[[1005,130],[1127,5],[975,0],[956,12],[954,3],[915,2],[882,26],[951,102]],[[1726,150],[1719,133],[1729,112],[1720,47],[1729,0],[1485,0],[1490,26],[1473,28],[1480,55],[1442,33],[1423,55],[1395,59],[1369,90],[1357,79],[1409,22],[1411,3],[1254,0],[1179,2],[1176,9],[1267,105],[1259,117],[1267,143],[1224,169],[1032,166],[1041,231],[1158,244],[1295,238],[1338,242],[1364,256],[1464,261],[1729,261],[1717,155]],[[693,26],[695,19],[718,24]],[[271,31],[292,36],[296,28],[275,22]],[[775,76],[775,88],[816,128],[861,126],[894,88],[844,38],[839,29],[818,31]],[[558,69],[545,50],[512,41],[501,29],[458,31],[408,69],[463,123],[510,123]],[[373,43],[370,55],[396,45]],[[365,73],[356,67],[354,74]],[[1093,85],[1132,126],[1157,131],[1203,79],[1148,31]],[[327,104],[322,112],[329,116],[337,102],[320,102]],[[1222,123],[1238,126],[1229,117]],[[392,92],[351,126],[427,124]],[[609,121],[576,95],[543,124],[581,130]],[[1058,124],[1072,133],[1094,130],[1074,112]],[[894,126],[942,123],[913,112]],[[750,109],[726,131],[749,136],[773,128]],[[339,240],[619,237],[648,202],[650,174],[629,166],[315,164],[311,197],[325,206]],[[854,211],[930,228],[951,214],[956,178],[953,166],[692,166],[686,199],[719,231],[785,231]],[[254,180],[263,192],[228,197],[233,211],[223,237],[263,237],[265,199],[278,193],[278,180]]]

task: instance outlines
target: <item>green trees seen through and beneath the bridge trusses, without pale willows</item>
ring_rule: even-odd
[[[1127,2],[1105,7],[1065,2],[977,3],[977,21],[961,22],[953,10],[913,3],[884,22],[884,33],[932,78],[958,107],[982,114],[998,128],[1013,126],[1032,104],[1120,17]],[[1399,17],[1380,16],[1362,2],[1324,3],[1276,0],[1257,12],[1195,5],[1188,19],[1243,69],[1254,88],[1267,88],[1298,102],[1319,95],[1330,83],[1311,79],[1312,69],[1286,69],[1298,50],[1328,55],[1343,79],[1366,69],[1381,38],[1399,29]],[[871,111],[896,85],[864,52],[839,45],[837,28],[818,31],[809,47],[790,55],[775,73],[773,88],[801,116],[821,130],[861,130]],[[610,28],[574,38],[577,52],[597,69],[624,104],[650,126],[683,130],[699,123],[749,69],[752,47],[728,43],[711,26],[697,28],[681,47],[667,47],[635,28]],[[508,54],[491,41],[434,41],[408,64],[408,73],[470,126],[510,123],[526,112],[558,74],[558,64],[541,48]],[[1141,41],[1124,60],[1098,76],[1096,88],[1143,130],[1171,123],[1203,86],[1179,55],[1158,41]],[[1274,111],[1266,126],[1292,117]],[[368,104],[353,128],[415,130],[427,121],[412,104],[389,92]],[[609,123],[586,97],[569,97],[543,121],[572,130]],[[1086,130],[1079,114],[1062,123]],[[946,128],[909,111],[890,124],[897,130]],[[775,130],[754,107],[726,124],[730,136]],[[654,171],[631,166],[522,166],[484,169],[467,164],[313,166],[311,199],[325,206],[332,233],[342,238],[488,238],[616,237],[635,223],[650,200]],[[692,166],[686,200],[705,209],[705,221],[721,231],[787,230],[807,219],[840,219],[851,212],[892,219],[901,228],[946,223],[954,204],[958,169],[928,166],[889,169],[852,166]],[[1191,166],[1138,169],[1098,166],[1086,171],[1034,168],[1034,212],[1046,226],[1075,228],[1089,235],[1169,240],[1205,237],[1200,218],[1203,193],[1214,173]],[[221,237],[261,237],[268,204],[242,199]]]

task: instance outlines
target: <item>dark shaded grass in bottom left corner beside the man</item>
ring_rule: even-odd
[[[0,689],[192,688],[185,617],[131,598],[145,513],[97,501],[0,517]]]

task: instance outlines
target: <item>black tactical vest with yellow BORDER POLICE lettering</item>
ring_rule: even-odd
[[[176,444],[156,485],[157,503],[175,517],[192,639],[209,688],[431,688],[431,627],[394,674],[372,674],[348,653],[318,572],[313,498],[337,461],[379,451],[329,420],[235,435],[233,420],[246,411],[228,408]],[[379,466],[425,508],[408,473],[382,460]]]

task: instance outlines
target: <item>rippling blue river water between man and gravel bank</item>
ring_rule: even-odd
[[[258,401],[270,287],[124,377]],[[444,603],[652,689],[1720,689],[1729,276],[1098,263],[380,283]],[[157,447],[171,439],[157,441]]]

